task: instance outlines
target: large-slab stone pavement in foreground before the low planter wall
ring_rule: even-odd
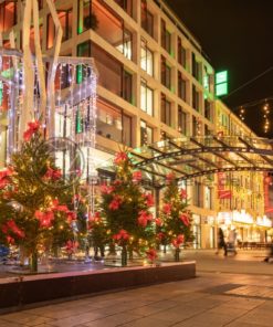
[[[197,278],[85,297],[0,316],[1,327],[272,326],[273,278],[200,273]]]

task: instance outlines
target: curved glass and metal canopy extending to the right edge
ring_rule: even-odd
[[[180,137],[136,148],[130,158],[160,188],[170,172],[188,180],[224,171],[273,171],[273,143],[245,136]]]

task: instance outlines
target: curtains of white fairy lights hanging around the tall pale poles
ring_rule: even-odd
[[[0,54],[0,61],[2,63],[1,73],[7,75],[8,82],[3,82],[4,85],[4,95],[8,102],[8,158],[12,152],[14,152],[18,148],[18,131],[19,131],[19,122],[20,116],[22,115],[23,107],[23,96],[25,93],[25,81],[24,81],[24,70],[22,64],[22,57],[20,52],[14,50],[14,57],[10,54],[3,53]],[[17,70],[12,66],[12,61],[15,59],[17,61]],[[87,59],[86,59],[87,60]],[[54,136],[61,136],[62,130],[64,133],[64,126],[67,126],[67,120],[70,122],[70,126],[67,126],[67,135],[72,140],[78,144],[80,147],[87,147],[88,151],[85,158],[86,167],[88,167],[88,175],[94,180],[96,176],[95,171],[95,162],[94,162],[94,148],[96,143],[96,73],[93,67],[93,61],[88,63],[86,60],[82,61],[81,59],[67,57],[66,60],[62,57],[59,60],[56,64],[56,68],[59,70],[59,75],[55,74],[55,85],[59,86],[55,89],[55,105],[56,105],[56,115],[61,115],[59,120],[62,120],[63,128],[55,128],[53,130]],[[49,59],[50,61],[50,59]],[[87,60],[88,61],[88,60]],[[44,64],[46,64],[46,57],[44,60]],[[76,84],[76,67],[82,66],[82,81]],[[34,117],[35,119],[40,118],[40,85],[38,78],[38,66],[35,59],[33,60],[33,77],[34,77],[34,87],[33,87],[33,107],[34,107]],[[12,70],[13,68],[13,70]],[[64,74],[67,72],[66,74]],[[11,72],[13,72],[11,74]],[[57,80],[59,78],[59,80]],[[67,81],[64,81],[67,78]],[[59,83],[56,83],[56,81]],[[69,82],[69,83],[66,83]],[[80,81],[78,81],[80,82]],[[62,94],[62,86],[67,87],[67,93]],[[77,94],[76,94],[77,92]],[[64,95],[65,99],[62,98]],[[15,96],[17,95],[17,96]],[[81,133],[76,134],[76,112],[78,110],[81,118]],[[49,124],[49,102],[48,102],[48,110],[44,127],[48,129]],[[54,118],[57,118],[54,117]],[[60,122],[61,124],[61,122]],[[62,126],[57,126],[62,127]],[[70,128],[70,130],[69,130]],[[59,129],[59,130],[57,130]],[[66,134],[63,134],[66,136]],[[64,172],[65,173],[65,172]]]

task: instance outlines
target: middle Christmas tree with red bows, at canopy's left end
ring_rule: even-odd
[[[127,253],[147,254],[153,261],[155,220],[150,213],[154,199],[140,186],[141,172],[134,171],[126,152],[114,160],[116,179],[102,187],[102,217],[113,242],[122,247],[122,265],[127,265]],[[153,256],[153,257],[151,257]]]

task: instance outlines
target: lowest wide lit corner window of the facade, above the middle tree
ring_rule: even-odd
[[[98,98],[97,134],[132,146],[132,118],[115,105]]]

